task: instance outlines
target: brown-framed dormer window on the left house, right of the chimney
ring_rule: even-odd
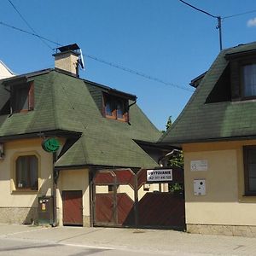
[[[118,96],[105,94],[103,115],[108,119],[118,119],[128,122],[128,100]]]

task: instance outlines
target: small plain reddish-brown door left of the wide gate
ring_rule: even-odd
[[[81,190],[62,191],[63,225],[83,225],[83,201]]]

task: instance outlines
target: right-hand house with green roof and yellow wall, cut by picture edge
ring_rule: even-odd
[[[192,233],[256,236],[256,43],[222,50],[160,142],[183,149]]]

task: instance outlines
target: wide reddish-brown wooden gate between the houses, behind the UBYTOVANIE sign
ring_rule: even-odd
[[[183,229],[185,203],[177,184],[182,188],[180,168],[172,168],[170,183],[148,183],[145,169],[137,174],[131,169],[98,171],[93,179],[93,224]]]

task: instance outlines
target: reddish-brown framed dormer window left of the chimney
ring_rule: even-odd
[[[13,113],[25,112],[34,108],[34,85],[17,84],[11,88],[11,108]]]

